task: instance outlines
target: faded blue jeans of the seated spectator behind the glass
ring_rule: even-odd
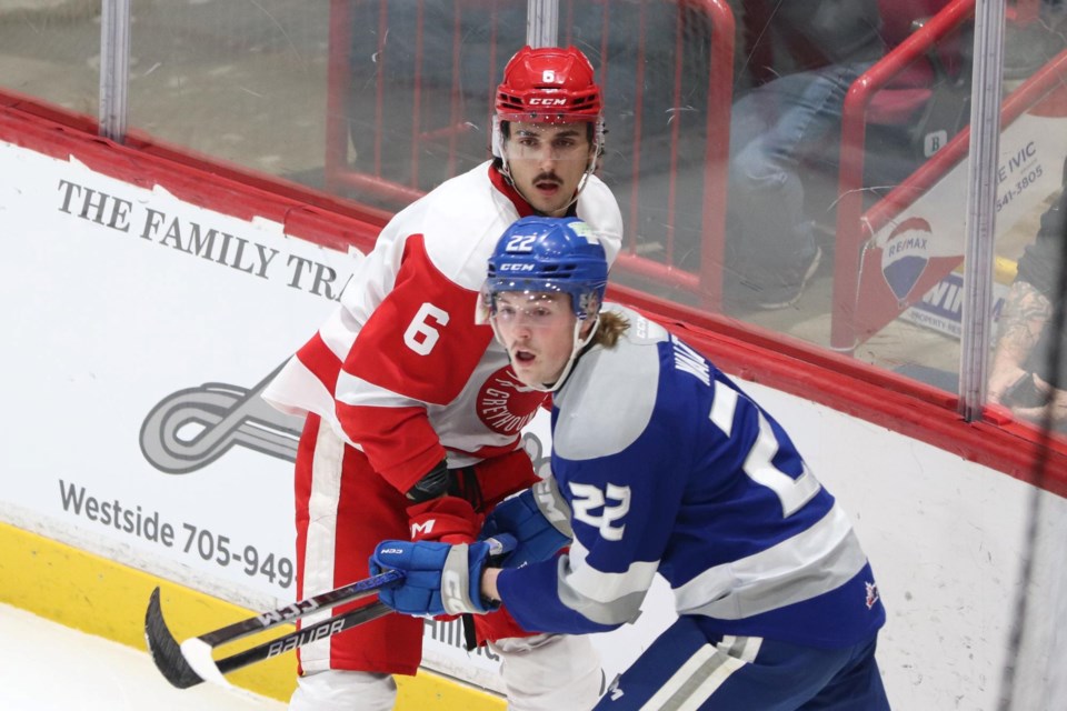
[[[848,87],[870,66],[787,74],[734,104],[726,266],[737,297],[766,302],[799,292],[816,254],[800,161],[831,147]]]

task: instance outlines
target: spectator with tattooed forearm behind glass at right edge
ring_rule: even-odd
[[[1063,184],[1067,186],[1067,160]],[[1065,242],[1067,190],[1060,190],[1019,259],[1019,273],[1000,312],[988,389],[990,402],[1034,422],[1044,421],[1049,401],[1050,422],[1059,431],[1067,431],[1067,341],[1063,314],[1057,313],[1065,306]]]

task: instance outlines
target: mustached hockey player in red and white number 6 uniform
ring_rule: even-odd
[[[517,52],[496,94],[492,161],[383,228],[339,308],[268,388],[275,407],[307,415],[298,598],[367,577],[382,539],[473,541],[498,501],[537,480],[519,442],[545,393],[518,381],[472,314],[486,260],[520,217],[577,216],[615,257],[621,214],[594,174],[602,142],[588,59],[572,47]],[[595,702],[601,673],[585,638],[531,635],[506,611],[477,628],[502,658],[510,708]],[[302,648],[290,709],[391,709],[392,674],[416,673],[421,640],[421,620],[395,614]]]

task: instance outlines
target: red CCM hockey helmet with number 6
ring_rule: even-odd
[[[503,69],[496,109],[503,121],[594,122],[604,101],[592,64],[578,48],[527,46]]]

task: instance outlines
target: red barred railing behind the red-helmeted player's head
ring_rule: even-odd
[[[470,3],[468,3],[468,6],[469,4]],[[492,0],[481,0],[477,4],[479,6],[478,10],[481,12],[479,21],[483,21],[485,27],[488,28],[489,31],[489,61],[486,68],[485,96],[491,97],[496,84],[499,82],[499,76],[497,76],[499,71],[498,67],[502,60],[507,59],[502,53],[510,53],[516,48],[501,48],[498,46],[498,3]],[[461,111],[463,88],[460,86],[459,67],[463,38],[460,31],[461,18],[460,10],[458,9],[460,3],[456,3],[457,10],[451,18],[452,27],[448,30],[451,33],[451,57],[442,60],[450,61],[452,68],[451,88],[448,92],[448,119],[438,120],[441,111],[438,106],[433,106],[429,110],[435,112],[432,119],[437,120],[438,124],[427,129],[422,126],[428,122],[425,118],[428,108],[425,106],[426,87],[420,69],[426,59],[423,57],[423,38],[427,29],[437,32],[438,37],[440,37],[442,28],[438,26],[432,28],[425,27],[423,3],[418,2],[411,3],[407,8],[409,16],[410,12],[415,12],[415,27],[410,29],[410,32],[402,32],[400,28],[390,23],[388,19],[390,3],[385,0],[379,0],[377,7],[378,51],[381,52],[385,50],[387,41],[408,42],[413,56],[413,69],[409,78],[410,86],[388,86],[389,81],[386,77],[383,62],[377,63],[373,86],[373,99],[376,102],[372,129],[375,133],[373,156],[372,158],[361,156],[359,157],[360,160],[358,164],[353,164],[349,160],[348,117],[348,97],[351,91],[352,74],[350,54],[353,40],[353,2],[351,0],[331,1],[330,59],[328,70],[329,96],[327,101],[326,124],[327,150],[325,159],[326,189],[328,191],[339,194],[352,194],[356,199],[359,199],[358,196],[360,194],[370,196],[391,201],[398,207],[416,200],[425,194],[425,191],[431,187],[427,184],[425,176],[421,176],[420,172],[422,170],[422,163],[420,163],[422,150],[429,142],[433,142],[437,150],[441,150],[443,147],[447,156],[445,177],[453,176],[469,167],[462,164],[462,157],[459,156],[458,150],[459,141],[465,138],[465,133],[471,131],[471,126],[463,120]],[[627,7],[632,8],[634,6]],[[392,6],[392,8],[396,13],[396,6]],[[610,91],[608,89],[612,81],[619,81],[612,77],[612,58],[608,54],[608,33],[611,27],[608,23],[608,18],[610,11],[618,12],[617,8],[618,6],[612,8],[611,3],[608,2],[602,3],[604,23],[599,38],[601,61],[600,67],[598,67],[598,76],[601,86],[605,87],[605,91],[608,93],[609,130],[610,113],[617,113],[624,109],[624,107],[610,106]],[[616,270],[617,272],[630,273],[650,280],[671,290],[682,290],[691,293],[696,297],[701,308],[718,310],[722,294],[727,161],[729,153],[730,103],[734,86],[734,14],[726,0],[679,0],[676,4],[678,19],[675,26],[675,37],[672,38],[675,48],[672,52],[674,66],[670,68],[670,76],[649,78],[642,73],[646,64],[646,53],[656,50],[657,46],[651,44],[651,47],[649,47],[651,40],[646,37],[644,30],[647,13],[651,12],[652,8],[655,8],[655,12],[662,13],[669,8],[669,4],[659,1],[642,1],[636,7],[636,22],[639,32],[632,89],[635,92],[632,136],[621,137],[621,142],[626,144],[626,149],[624,149],[619,156],[610,157],[612,161],[620,159],[624,161],[627,159],[630,160],[629,170],[625,171],[625,174],[627,174],[629,179],[627,192],[629,207],[624,213],[624,218],[627,220],[627,239],[618,257]],[[706,92],[706,103],[704,107],[698,107],[698,110],[702,111],[698,111],[697,113],[697,116],[700,116],[700,112],[704,114],[704,162],[700,171],[700,179],[702,181],[702,191],[699,198],[700,204],[680,204],[678,198],[678,161],[679,157],[686,156],[687,151],[687,146],[685,144],[686,137],[681,132],[681,124],[684,121],[691,120],[689,116],[686,116],[686,112],[680,110],[685,103],[684,92],[692,89],[692,87],[686,86],[684,82],[684,78],[686,78],[687,74],[684,67],[685,53],[682,46],[687,39],[685,36],[686,30],[692,29],[686,24],[685,13],[689,13],[686,17],[699,18],[700,29],[698,31],[705,31],[702,28],[706,27],[708,34],[706,38],[708,51],[708,57],[706,58],[707,87],[704,90]],[[408,19],[410,19],[410,17]],[[574,40],[570,34],[572,24],[569,21],[566,10],[560,12],[560,43],[571,43]],[[615,27],[618,27],[618,22],[616,22]],[[588,28],[586,29],[588,30]],[[402,37],[400,37],[401,34]],[[656,42],[661,42],[664,38],[656,37],[652,39]],[[584,37],[582,41],[588,43],[590,40],[588,37]],[[699,47],[702,48],[705,44],[700,44]],[[689,78],[691,80],[691,72]],[[669,166],[666,173],[667,187],[664,198],[666,204],[659,208],[664,210],[666,217],[659,221],[662,223],[661,233],[655,236],[641,236],[638,230],[638,226],[641,223],[640,211],[647,209],[647,204],[642,204],[644,186],[641,166],[641,142],[646,121],[646,116],[644,114],[646,110],[644,101],[646,79],[670,81],[672,100],[671,107],[664,107],[665,111],[671,111],[669,128],[666,131],[667,162]],[[700,77],[700,79],[705,78]],[[402,181],[395,176],[387,174],[388,171],[383,170],[382,161],[383,142],[398,140],[395,133],[390,136],[389,117],[382,113],[388,92],[395,91],[410,92],[410,94],[407,96],[409,103],[406,106],[411,107],[415,116],[411,122],[411,133],[407,139],[410,146],[409,154],[402,169],[402,172],[406,173],[406,178]],[[437,96],[440,98],[440,94]],[[488,123],[489,112],[490,106],[487,100],[483,111],[487,118],[483,126]],[[467,136],[467,138],[469,139],[470,136]],[[611,187],[617,191],[619,190],[617,186]],[[617,192],[617,194],[619,193]],[[676,259],[676,243],[678,240],[676,224],[682,211],[687,214],[700,216],[699,227],[694,230],[698,232],[695,240],[698,242],[699,262],[696,266],[689,263],[685,268],[676,264],[678,261]],[[642,254],[640,250],[642,239],[655,239],[657,242],[661,242],[662,249],[659,252],[660,257],[652,258]]]

